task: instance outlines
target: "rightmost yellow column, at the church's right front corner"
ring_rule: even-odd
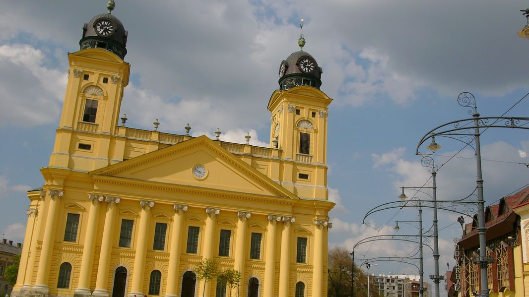
[[[314,253],[313,253],[313,274],[312,274],[312,297],[321,297],[323,291],[323,231],[327,228],[328,221],[314,220],[316,229],[314,230]]]

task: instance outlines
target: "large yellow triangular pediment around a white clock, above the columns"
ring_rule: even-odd
[[[203,166],[205,177],[196,177],[195,166]],[[90,172],[101,177],[184,185],[297,200],[218,142],[200,136]]]

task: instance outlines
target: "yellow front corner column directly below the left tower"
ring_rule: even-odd
[[[33,286],[33,290],[38,294],[48,294],[50,288],[48,287],[49,272],[51,265],[51,256],[53,253],[53,244],[55,242],[55,230],[57,229],[57,217],[59,216],[59,208],[61,205],[60,198],[64,194],[60,190],[50,190],[50,203],[48,206],[48,214],[46,217],[46,225],[44,226],[44,236],[42,238],[42,248],[40,250],[39,268],[37,270],[37,280]]]

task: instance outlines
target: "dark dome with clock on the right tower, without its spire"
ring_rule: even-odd
[[[302,70],[300,62],[305,60],[305,58],[308,58],[312,62],[312,71]],[[323,69],[318,66],[316,59],[308,52],[297,51],[291,53],[286,60],[281,61],[279,75],[281,75],[283,65],[285,65],[286,69],[284,75],[279,78],[279,86],[281,89],[288,89],[299,85],[307,85],[320,89]]]

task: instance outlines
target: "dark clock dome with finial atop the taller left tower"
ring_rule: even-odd
[[[108,13],[96,15],[83,26],[83,38],[79,41],[80,49],[103,49],[115,53],[123,59],[127,53],[127,31],[111,14],[115,7],[113,0],[108,1]]]

